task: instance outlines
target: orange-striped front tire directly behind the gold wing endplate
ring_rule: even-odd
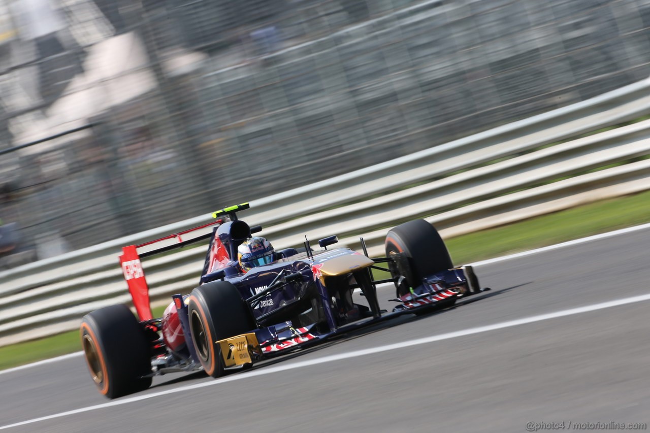
[[[192,291],[188,314],[192,343],[205,373],[222,376],[224,360],[216,341],[257,328],[252,311],[232,283],[214,281]]]

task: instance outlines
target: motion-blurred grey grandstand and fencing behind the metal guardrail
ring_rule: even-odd
[[[13,265],[633,83],[649,27],[650,0],[0,0]]]

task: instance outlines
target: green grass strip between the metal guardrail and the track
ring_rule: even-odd
[[[645,222],[650,222],[650,191],[469,233],[447,239],[446,243],[454,264],[460,265],[637,226]],[[161,317],[163,310],[164,308],[154,309],[154,317]],[[79,350],[81,343],[78,331],[0,347],[0,369]]]

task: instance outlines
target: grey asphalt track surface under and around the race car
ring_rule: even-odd
[[[644,228],[484,263],[476,271],[493,290],[456,308],[404,315],[220,380],[168,374],[148,391],[107,400],[79,355],[6,371],[0,430],[525,432],[527,423],[650,423],[649,244]],[[392,294],[387,287],[380,298]]]

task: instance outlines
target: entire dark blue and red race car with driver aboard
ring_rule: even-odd
[[[226,207],[213,213],[218,219],[210,224],[123,248],[120,263],[139,320],[119,304],[92,311],[81,322],[88,369],[101,394],[112,399],[142,391],[156,374],[174,371],[203,369],[216,378],[358,326],[445,308],[482,291],[471,267],[453,267],[425,220],[390,230],[386,256],[370,259],[363,238],[363,254],[328,250],[335,236],[318,241],[322,250],[306,241],[300,253],[274,251],[253,237],[260,226],[237,218],[244,209],[248,203]],[[140,259],[202,239],[210,241],[198,287],[172,296],[162,317],[152,317]],[[391,278],[374,280],[372,270],[383,269],[378,263]],[[376,284],[387,282],[396,288],[391,313],[377,301]],[[367,306],[353,302],[356,289]]]

